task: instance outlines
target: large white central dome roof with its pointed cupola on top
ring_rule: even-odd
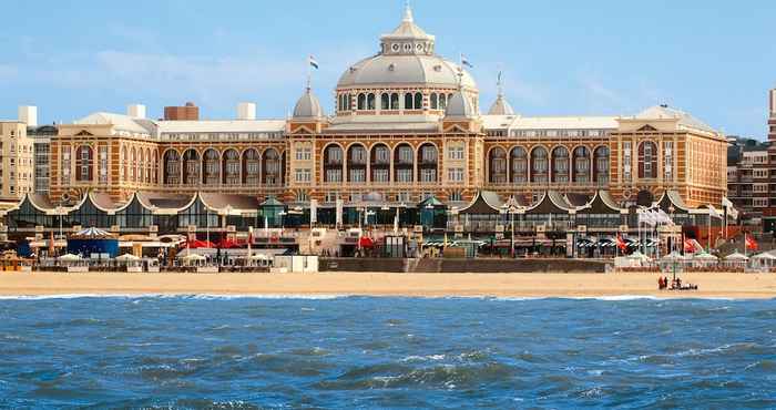
[[[338,91],[385,86],[431,86],[476,92],[477,84],[459,64],[435,54],[435,37],[427,34],[407,8],[396,30],[380,38],[380,52],[350,66]]]

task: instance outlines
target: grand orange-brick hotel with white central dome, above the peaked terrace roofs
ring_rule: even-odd
[[[480,192],[530,205],[548,192],[606,191],[621,206],[671,192],[695,209],[726,194],[727,141],[692,115],[662,105],[523,116],[501,92],[482,113],[472,75],[435,45],[407,9],[377,54],[345,69],[330,114],[307,89],[286,120],[256,120],[241,104],[235,120],[155,121],[134,105],[62,124],[50,140],[48,201],[203,193],[321,208],[433,197],[463,208]]]

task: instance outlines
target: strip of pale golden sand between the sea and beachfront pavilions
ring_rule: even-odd
[[[246,295],[776,298],[776,275],[685,274],[700,291],[660,291],[655,274],[0,274],[0,296]]]

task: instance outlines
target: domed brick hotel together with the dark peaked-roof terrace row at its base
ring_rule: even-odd
[[[9,209],[8,234],[239,235],[313,226],[314,208],[315,227],[392,228],[399,215],[409,233],[514,225],[565,239],[634,230],[634,205],[705,226],[723,202],[727,141],[694,116],[523,116],[501,91],[482,113],[472,75],[435,45],[408,8],[376,55],[345,69],[330,114],[308,88],[286,120],[244,103],[235,120],[200,121],[188,104],[155,121],[132,105],[61,124],[49,193]]]

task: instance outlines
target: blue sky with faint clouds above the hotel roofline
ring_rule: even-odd
[[[94,111],[194,101],[207,119],[241,101],[284,117],[300,95],[306,57],[330,112],[350,63],[375,53],[401,0],[7,0],[0,25],[0,117],[34,104],[41,122]],[[437,51],[476,64],[489,106],[501,66],[523,115],[634,114],[658,103],[728,134],[764,139],[776,86],[776,2],[412,1]]]

